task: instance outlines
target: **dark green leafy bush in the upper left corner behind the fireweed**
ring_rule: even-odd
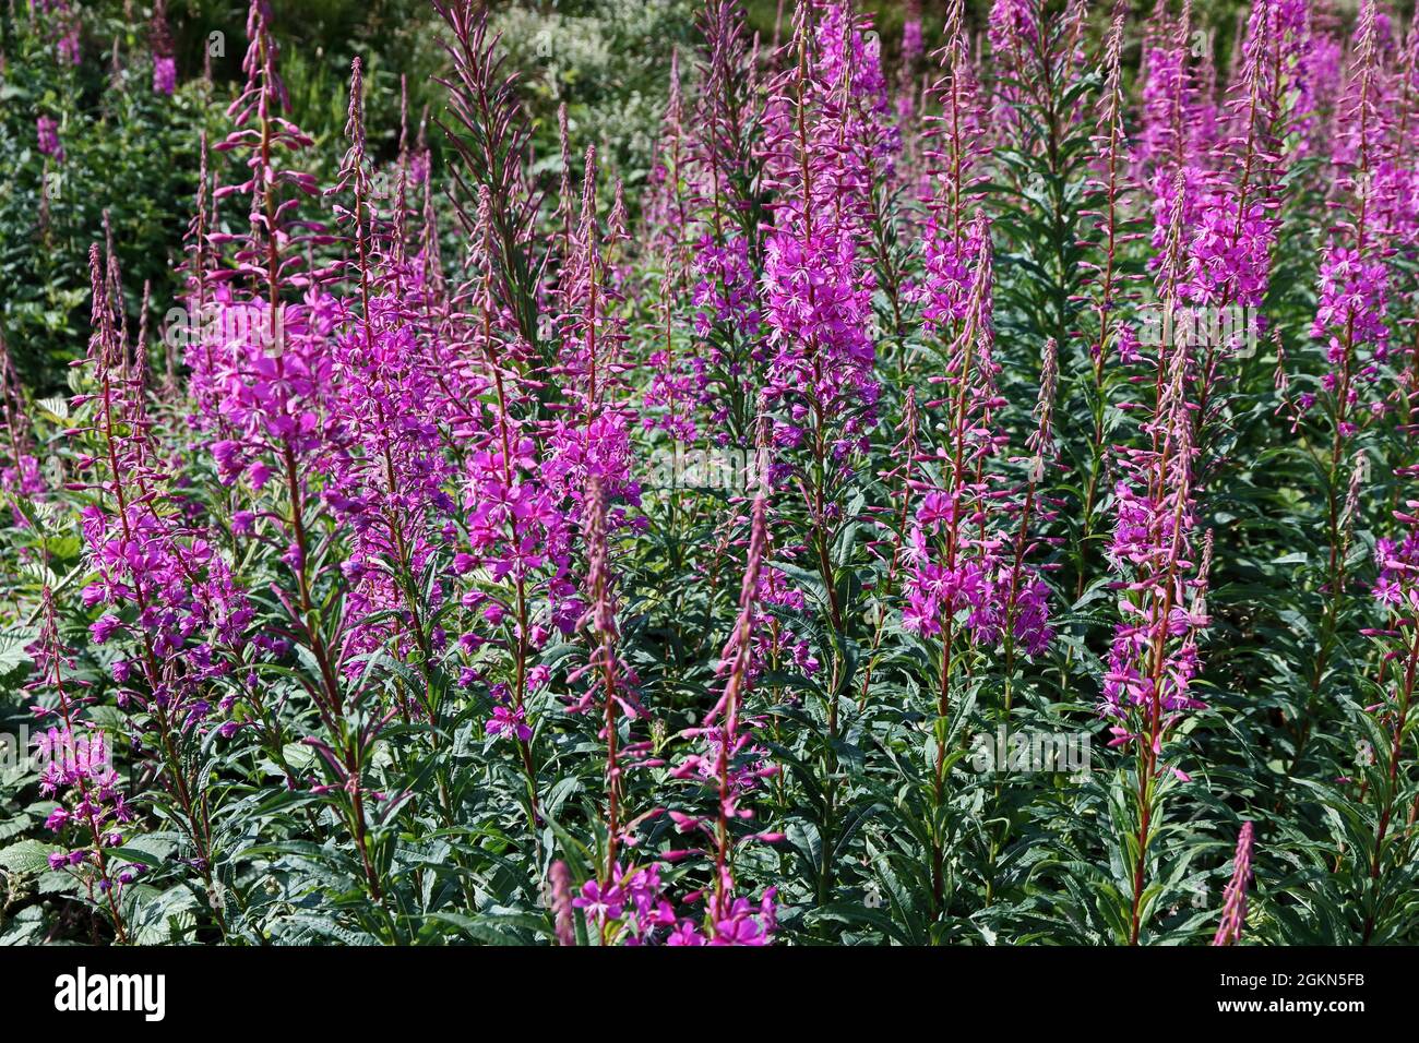
[[[40,393],[88,338],[87,257],[105,211],[129,321],[145,282],[155,301],[172,299],[209,119],[201,82],[153,91],[143,27],[84,13],[79,64],[61,58],[51,33],[23,9],[0,14],[0,329]],[[40,150],[40,118],[57,123],[62,158]]]

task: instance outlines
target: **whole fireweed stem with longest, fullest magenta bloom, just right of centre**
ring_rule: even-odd
[[[766,169],[778,200],[765,254],[769,343],[766,402],[782,412],[775,440],[796,451],[795,475],[810,529],[809,553],[832,633],[826,683],[823,861],[817,898],[827,901],[833,866],[840,688],[850,606],[833,562],[840,494],[851,456],[877,420],[880,386],[873,268],[857,254],[871,214],[874,180],[898,148],[885,85],[864,27],[846,4],[805,3],[795,14],[793,62],[771,87]]]

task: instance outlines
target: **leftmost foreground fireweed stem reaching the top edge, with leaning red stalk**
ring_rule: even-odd
[[[309,268],[308,253],[302,253],[302,247],[314,251],[331,237],[294,214],[301,196],[316,193],[315,179],[277,163],[278,148],[294,152],[311,140],[281,115],[288,98],[277,71],[271,20],[270,4],[253,0],[243,62],[247,82],[228,109],[236,129],[217,146],[219,152],[244,152],[251,170],[250,180],[216,193],[219,199],[250,197],[248,234],[209,236],[214,245],[236,243],[234,267],[214,274],[219,282],[214,297],[219,309],[233,316],[230,325],[240,336],[221,336],[221,351],[214,355],[210,372],[204,372],[209,356],[201,345],[189,351],[189,365],[200,379],[216,385],[214,409],[231,420],[231,438],[213,447],[220,477],[231,484],[245,478],[257,492],[277,477],[284,492],[280,521],[287,545],[281,561],[294,590],[274,593],[297,639],[311,653],[312,677],[305,687],[325,735],[308,736],[305,745],[315,751],[316,763],[329,779],[315,789],[338,807],[356,847],[363,885],[382,903],[383,885],[370,839],[375,798],[366,789],[365,773],[379,732],[397,710],[368,707],[369,685],[358,678],[346,683],[349,658],[356,651],[345,640],[346,620],[331,619],[318,607],[324,593],[319,585],[326,576],[312,561],[318,542],[309,507],[316,475],[326,470],[316,464],[328,463],[333,451],[329,417],[339,412],[338,370],[325,338],[343,309],[319,289],[332,271]],[[352,177],[362,176],[359,163],[346,169]],[[288,190],[297,194],[287,196]],[[238,281],[250,282],[250,295],[240,289]],[[285,299],[289,289],[304,291],[301,304]],[[363,315],[368,319],[369,312]],[[228,329],[226,321],[219,325],[223,332]],[[329,498],[339,509],[338,490],[332,492]],[[270,639],[265,644],[274,650]]]

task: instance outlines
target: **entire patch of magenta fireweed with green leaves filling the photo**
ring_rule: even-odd
[[[617,177],[434,7],[0,331],[0,937],[1419,941],[1416,26],[705,0]]]

